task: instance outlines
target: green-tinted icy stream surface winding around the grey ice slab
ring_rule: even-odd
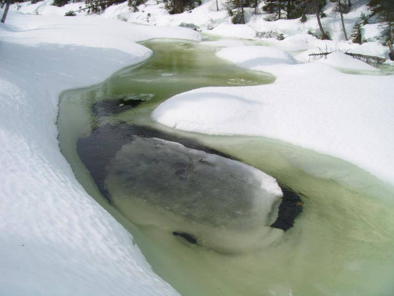
[[[273,77],[222,62],[213,47],[183,41],[143,44],[155,52],[144,64],[99,86],[64,93],[58,124],[60,147],[77,179],[132,233],[155,272],[182,295],[393,295],[393,187],[347,162],[280,141],[206,136],[153,122],[151,111],[177,93],[270,83]],[[148,100],[101,119],[92,115],[95,102],[120,96]],[[251,164],[299,192],[303,212],[287,232],[275,229],[259,247],[237,254],[221,254],[173,236],[175,225],[154,209],[119,201],[122,215],[102,199],[76,153],[77,140],[92,128],[119,121],[193,138]],[[226,237],[234,245],[244,239]]]

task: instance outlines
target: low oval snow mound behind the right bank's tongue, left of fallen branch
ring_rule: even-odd
[[[295,58],[284,50],[268,46],[235,46],[218,51],[216,55],[242,68],[256,70],[261,66],[297,64]]]

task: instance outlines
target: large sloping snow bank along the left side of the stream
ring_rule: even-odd
[[[62,90],[149,57],[134,41],[199,40],[185,28],[9,13],[0,26],[0,294],[177,295],[59,150]]]

